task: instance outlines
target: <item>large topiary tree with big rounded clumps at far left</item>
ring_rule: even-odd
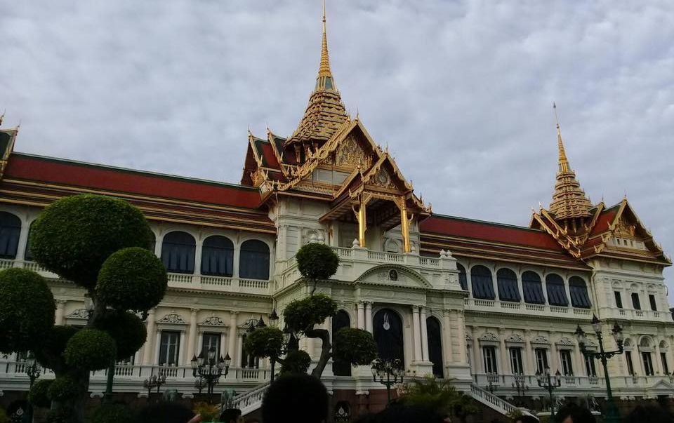
[[[48,393],[58,407],[49,418],[73,413],[75,422],[84,422],[88,373],[111,368],[110,392],[115,359],[131,356],[145,342],[136,313],[146,316],[159,304],[168,279],[164,264],[147,250],[151,240],[143,213],[108,196],[60,199],[35,220],[30,231],[34,260],[84,288],[93,301],[82,330],[54,326],[53,296],[38,274],[0,272],[0,349],[31,349],[41,365],[54,370]]]

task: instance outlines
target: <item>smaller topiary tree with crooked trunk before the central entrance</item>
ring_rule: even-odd
[[[308,243],[300,248],[295,257],[300,274],[312,284],[312,290],[308,297],[293,300],[286,306],[283,311],[286,325],[284,330],[322,341],[321,356],[311,374],[320,378],[333,356],[353,365],[371,363],[377,357],[377,347],[371,333],[358,329],[348,329],[344,332],[340,330],[339,333],[343,335],[335,338],[333,351],[329,330],[316,327],[337,313],[337,304],[331,297],[323,293],[314,294],[314,291],[319,281],[325,281],[335,274],[339,257],[332,248],[320,243]],[[310,356],[305,351],[298,351],[296,346],[289,345],[286,358],[278,358],[281,355],[282,345],[276,341],[272,342],[271,334],[267,328],[254,330],[246,337],[248,351],[253,356],[271,357],[272,361],[281,363],[282,372],[306,372],[311,363]],[[274,334],[282,340],[281,330],[275,329]],[[251,337],[255,341],[249,343]],[[273,347],[272,351],[257,348],[270,345]]]

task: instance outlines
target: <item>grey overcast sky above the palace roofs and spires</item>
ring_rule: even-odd
[[[672,1],[327,8],[346,107],[436,213],[527,225],[532,206],[547,207],[554,100],[590,199],[627,194],[674,253]],[[4,127],[21,122],[20,152],[239,182],[247,128],[290,135],[319,65],[319,0],[0,0],[0,10],[0,111]]]

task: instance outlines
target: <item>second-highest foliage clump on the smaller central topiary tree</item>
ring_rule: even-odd
[[[308,244],[312,245],[312,244]],[[319,244],[320,245],[320,244]],[[337,304],[325,294],[293,300],[283,311],[284,321],[293,332],[303,333],[337,313]]]

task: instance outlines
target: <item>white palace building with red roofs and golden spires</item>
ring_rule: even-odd
[[[580,325],[590,334],[586,347],[596,349],[596,315],[607,349],[615,348],[614,323],[623,328],[625,351],[608,367],[614,396],[673,393],[674,322],[663,278],[671,262],[626,198],[590,202],[560,127],[552,201],[534,210],[527,227],[435,213],[346,112],[325,24],[301,121],[288,137],[249,133],[239,145],[246,157],[238,184],[23,154],[18,133],[0,129],[0,269],[48,278],[57,324],[84,325],[89,313],[81,288],[32,261],[31,223],[57,199],[94,193],[131,202],[149,220],[152,248],[169,271],[169,290],[147,318],[145,346],[117,363],[116,392],[147,395],[143,381],[164,372],[165,389],[192,396],[190,360],[214,347],[232,358],[216,392],[234,389],[244,410],[257,408],[270,365],[246,354],[246,333],[309,295],[294,255],[317,242],[340,259],[318,286],[338,302],[324,328],[370,331],[380,355],[400,358],[409,377],[451,379],[507,411],[517,396],[546,396],[536,372],[549,368],[562,376],[558,396],[602,398],[602,366],[583,356],[574,336]],[[300,347],[318,359],[319,340],[302,339]],[[366,366],[330,363],[323,379],[354,410],[385,392]],[[0,392],[27,386],[22,356],[0,356]],[[92,395],[104,389],[105,371],[95,372]]]

